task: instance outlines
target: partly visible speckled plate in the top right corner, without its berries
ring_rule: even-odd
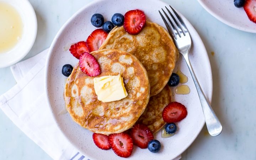
[[[233,0],[197,0],[211,15],[241,31],[256,33],[256,23],[247,17],[244,8],[237,8]]]

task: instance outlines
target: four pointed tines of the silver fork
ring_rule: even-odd
[[[177,14],[177,12],[171,6],[170,8],[171,8],[171,11],[165,6],[165,9],[167,10],[171,18],[170,16],[167,15],[164,9],[162,9],[162,12],[164,12],[164,15],[166,16],[167,20],[171,24],[171,27],[166,21],[165,17],[162,15],[162,13],[159,11],[159,14],[162,17],[162,20],[164,21],[168,32],[170,33],[172,38],[175,38],[175,39],[177,39],[177,35],[179,37],[182,37],[183,35],[186,36],[186,33],[188,32],[186,25],[182,21],[181,17]]]

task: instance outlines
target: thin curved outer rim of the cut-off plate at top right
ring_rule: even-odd
[[[240,30],[240,31],[244,31],[244,32],[249,32],[249,33],[256,33],[256,30],[254,29],[251,29],[251,28],[245,28],[245,27],[241,27],[241,26],[238,26],[234,23],[231,23],[230,21],[228,20],[225,20],[223,17],[215,14],[215,12],[210,9],[210,7],[204,2],[204,0],[197,0],[199,2],[199,4],[210,14],[212,15],[213,17],[215,17],[217,20],[219,20],[220,22],[232,27],[232,28],[235,28],[237,30]],[[248,19],[249,20],[249,19]]]

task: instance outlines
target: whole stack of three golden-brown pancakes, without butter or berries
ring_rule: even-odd
[[[77,64],[67,79],[64,91],[66,109],[74,121],[92,132],[121,133],[136,122],[155,133],[165,122],[162,110],[171,102],[167,84],[178,51],[169,33],[156,23],[146,21],[136,35],[115,27],[99,50],[91,52],[101,74],[120,74],[128,93],[126,98],[101,102],[94,90],[94,77],[82,73]]]

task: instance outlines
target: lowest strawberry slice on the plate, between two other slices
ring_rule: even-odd
[[[133,140],[127,133],[114,133],[108,135],[114,153],[121,157],[129,157],[133,150]]]

